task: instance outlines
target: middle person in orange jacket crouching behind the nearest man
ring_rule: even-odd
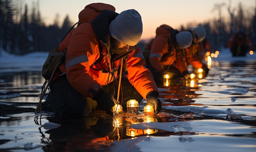
[[[189,31],[179,33],[166,24],[156,29],[156,36],[150,42],[152,44],[146,45],[144,53],[150,49],[146,67],[150,69],[157,85],[164,84],[164,75],[167,73],[172,79],[188,74],[183,49],[189,47],[192,40]],[[176,62],[177,60],[179,62]]]

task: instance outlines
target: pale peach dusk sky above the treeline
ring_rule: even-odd
[[[37,0],[23,0],[31,10],[32,2]],[[111,4],[117,13],[127,9],[135,9],[141,14],[143,33],[141,39],[155,37],[155,30],[162,24],[180,29],[188,23],[203,23],[218,19],[215,4],[225,3],[221,7],[222,19],[229,20],[228,5],[237,13],[238,3],[241,2],[245,16],[255,14],[256,0],[40,0],[40,13],[46,25],[53,24],[58,13],[62,24],[66,15],[72,23],[78,21],[78,14],[88,4],[103,2]]]

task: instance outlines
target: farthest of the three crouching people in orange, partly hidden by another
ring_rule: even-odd
[[[209,73],[209,68],[206,64],[202,63],[202,58],[204,57],[205,52],[202,44],[206,37],[205,29],[202,26],[197,26],[194,29],[191,29],[191,33],[193,34],[193,42],[191,46],[186,48],[186,61],[188,64],[191,64],[195,70],[202,68],[204,70],[204,76],[206,76]]]

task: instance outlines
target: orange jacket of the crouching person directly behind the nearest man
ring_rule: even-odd
[[[174,63],[181,73],[187,70],[185,62],[175,62],[177,51],[173,45],[175,42],[172,42],[173,39],[171,39],[171,35],[175,35],[175,33],[176,30],[165,24],[156,29],[156,36],[150,47],[149,62],[159,72],[164,71],[164,66],[173,65]]]

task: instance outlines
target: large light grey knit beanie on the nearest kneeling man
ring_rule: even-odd
[[[122,11],[110,22],[109,31],[115,39],[129,46],[135,46],[142,34],[141,16],[134,9]]]

